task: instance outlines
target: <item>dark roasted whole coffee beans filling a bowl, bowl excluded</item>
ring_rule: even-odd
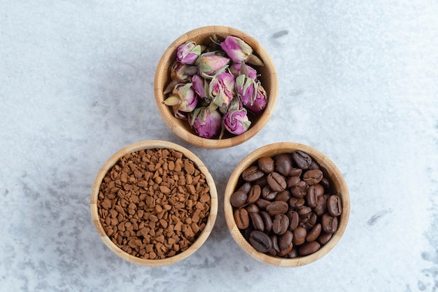
[[[297,258],[315,253],[338,228],[341,197],[304,151],[259,158],[230,197],[234,221],[254,249]]]

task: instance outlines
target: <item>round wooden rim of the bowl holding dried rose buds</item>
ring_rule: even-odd
[[[197,134],[194,134],[193,132],[189,132],[185,130],[178,124],[173,123],[175,119],[174,115],[171,113],[171,111],[169,111],[168,106],[162,104],[162,101],[164,100],[164,95],[162,94],[162,92],[167,84],[164,84],[164,82],[161,79],[161,76],[167,75],[169,70],[169,67],[165,66],[166,62],[171,58],[172,55],[176,54],[176,50],[178,49],[178,46],[180,46],[185,41],[190,40],[192,36],[194,35],[207,36],[211,34],[234,35],[234,36],[239,36],[242,39],[250,40],[250,43],[252,44],[251,47],[253,47],[255,53],[257,53],[257,55],[263,60],[265,66],[269,68],[269,74],[268,74],[269,76],[266,76],[264,78],[270,78],[271,81],[271,88],[269,90],[269,96],[268,96],[269,102],[267,103],[267,107],[266,109],[264,109],[262,115],[260,115],[257,124],[251,125],[251,127],[245,133],[227,139],[203,138],[197,136]],[[160,116],[162,116],[164,123],[166,123],[167,126],[171,129],[171,131],[174,132],[174,134],[176,134],[178,137],[180,137],[185,141],[188,141],[190,144],[194,144],[196,146],[200,146],[203,148],[229,148],[232,146],[242,144],[248,139],[254,137],[255,134],[257,134],[257,132],[260,132],[262,127],[266,125],[269,118],[271,118],[272,112],[274,111],[276,106],[276,101],[278,96],[278,77],[276,73],[276,68],[274,66],[274,62],[271,60],[269,53],[267,53],[267,50],[265,50],[262,47],[262,45],[256,39],[253,38],[253,36],[250,36],[246,32],[242,32],[241,30],[235,29],[233,27],[211,25],[205,27],[198,27],[196,29],[190,30],[189,32],[186,32],[185,34],[182,34],[175,41],[173,41],[166,50],[164,50],[164,53],[162,54],[162,57],[160,58],[160,61],[158,62],[155,71],[154,95],[155,95],[155,102],[157,104],[158,111],[160,112]]]

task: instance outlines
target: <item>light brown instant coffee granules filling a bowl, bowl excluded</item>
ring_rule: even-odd
[[[124,155],[106,173],[97,200],[106,235],[145,259],[175,256],[206,227],[206,177],[183,153],[153,148]]]

